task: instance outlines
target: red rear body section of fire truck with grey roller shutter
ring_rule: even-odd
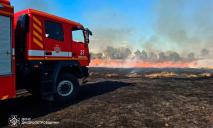
[[[16,96],[15,71],[12,70],[13,7],[5,2],[0,0],[0,100]]]

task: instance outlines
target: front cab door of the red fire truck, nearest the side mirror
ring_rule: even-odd
[[[83,30],[72,30],[72,50],[73,57],[87,60],[89,55],[88,44],[85,42]]]

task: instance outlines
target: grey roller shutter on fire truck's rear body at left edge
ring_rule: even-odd
[[[12,73],[11,20],[0,16],[0,75]]]

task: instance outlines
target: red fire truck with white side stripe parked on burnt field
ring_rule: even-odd
[[[34,9],[14,14],[0,0],[0,100],[26,89],[43,99],[66,102],[88,76],[91,31],[80,23]]]

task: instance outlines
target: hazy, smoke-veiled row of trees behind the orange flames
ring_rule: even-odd
[[[138,60],[149,62],[192,62],[197,60],[194,53],[189,53],[187,56],[180,55],[175,51],[167,52],[149,52],[146,50],[133,51],[127,47],[107,47],[102,53],[91,53],[92,59],[102,60]]]

